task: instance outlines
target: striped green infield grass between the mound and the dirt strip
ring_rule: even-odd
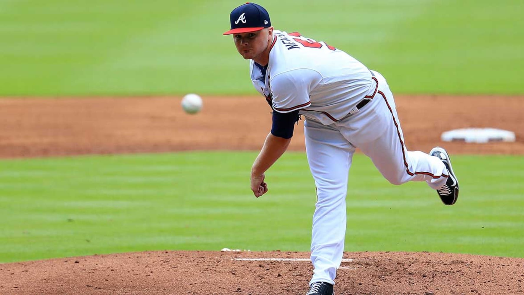
[[[288,152],[249,190],[255,152],[0,161],[0,262],[143,250],[308,251],[314,183]],[[394,186],[355,155],[346,251],[524,257],[521,156],[454,156],[457,204],[424,183]]]

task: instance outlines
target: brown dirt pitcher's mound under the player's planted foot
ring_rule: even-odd
[[[297,259],[298,258],[298,259]],[[0,265],[0,294],[300,294],[309,253],[141,252]],[[524,294],[524,259],[444,253],[344,254],[337,295]]]

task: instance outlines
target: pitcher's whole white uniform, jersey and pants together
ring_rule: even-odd
[[[310,284],[334,284],[344,250],[347,178],[356,148],[393,184],[426,181],[436,190],[449,172],[439,158],[406,148],[386,79],[344,51],[298,32],[274,30],[266,77],[253,60],[250,72],[255,89],[274,111],[300,110],[305,117],[305,147],[317,195]],[[351,188],[349,193],[362,198],[352,195]]]

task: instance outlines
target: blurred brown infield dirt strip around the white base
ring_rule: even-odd
[[[259,150],[269,132],[261,97],[203,97],[203,111],[185,114],[180,97],[0,99],[0,158],[167,152],[195,149]],[[397,96],[406,145],[452,154],[524,154],[524,97]],[[292,150],[303,150],[302,123]],[[516,133],[516,143],[445,143],[446,130],[494,127]]]

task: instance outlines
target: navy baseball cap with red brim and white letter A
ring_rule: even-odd
[[[249,2],[233,9],[230,21],[231,30],[223,35],[254,32],[271,26],[267,10],[258,4]]]

